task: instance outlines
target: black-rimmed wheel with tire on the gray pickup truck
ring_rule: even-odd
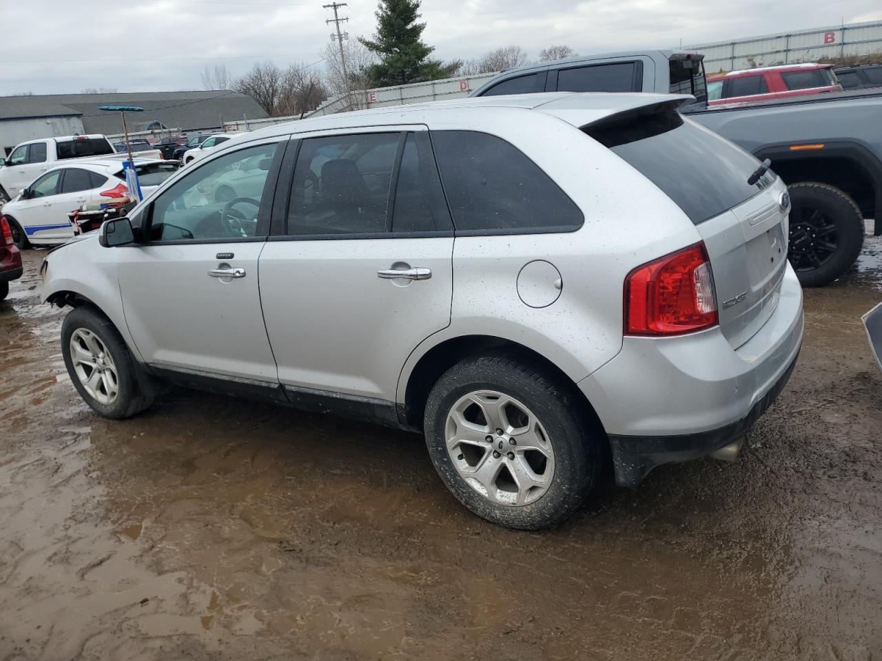
[[[788,187],[788,257],[803,286],[825,286],[855,263],[863,247],[863,215],[855,201],[826,183]]]

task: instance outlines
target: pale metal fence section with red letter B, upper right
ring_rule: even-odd
[[[684,48],[705,54],[708,73],[812,62],[821,57],[869,55],[882,51],[882,22],[818,27]]]

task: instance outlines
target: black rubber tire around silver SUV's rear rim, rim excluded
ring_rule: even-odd
[[[460,397],[476,390],[515,397],[541,420],[555,468],[551,485],[538,500],[519,506],[490,501],[452,464],[446,448],[447,416]],[[451,493],[477,516],[521,530],[547,528],[579,508],[600,479],[602,443],[607,442],[572,383],[527,356],[501,352],[467,358],[441,375],[426,404],[424,431],[432,464]]]

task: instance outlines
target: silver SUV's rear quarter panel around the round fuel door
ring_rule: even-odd
[[[479,130],[503,137],[564,189],[585,215],[576,232],[458,236],[453,244],[451,325],[408,358],[399,382],[404,401],[416,363],[445,340],[466,335],[526,345],[573,382],[622,347],[624,278],[634,267],[700,240],[684,212],[637,170],[557,118],[524,111],[524,122],[467,123],[430,130]],[[537,116],[538,115],[538,116]],[[557,268],[557,301],[531,308],[520,300],[520,270],[534,260]]]

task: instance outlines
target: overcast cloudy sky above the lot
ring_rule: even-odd
[[[315,63],[330,0],[0,0],[0,95],[199,89],[206,64],[238,75],[267,57]],[[376,0],[350,0],[348,33],[370,35]],[[879,0],[423,0],[424,40],[443,60],[517,44],[587,55],[665,48],[882,19]],[[321,67],[322,64],[316,64]]]

